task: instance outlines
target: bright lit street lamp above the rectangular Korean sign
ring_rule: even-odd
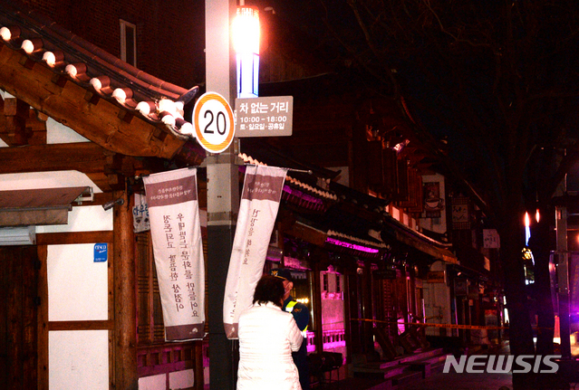
[[[233,47],[237,62],[237,98],[256,98],[259,84],[259,10],[237,7],[232,25]]]

